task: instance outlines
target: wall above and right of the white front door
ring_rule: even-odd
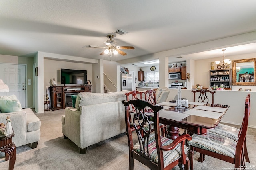
[[[18,57],[12,55],[1,55],[0,63],[13,63],[13,64],[26,64],[26,107],[33,107],[33,58],[31,57]],[[28,85],[28,79],[31,79],[31,85]]]

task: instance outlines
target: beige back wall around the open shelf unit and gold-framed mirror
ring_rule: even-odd
[[[244,54],[244,55],[234,55],[234,56],[225,56],[225,59],[230,60],[239,60],[239,59],[251,59],[255,58],[256,53],[251,54]],[[196,76],[195,76],[195,82],[192,84],[192,86],[196,84],[200,84],[204,87],[209,87],[209,70],[211,69],[210,65],[212,61],[222,61],[222,56],[218,58],[212,58],[212,59],[205,59],[205,60],[196,60]],[[221,62],[222,63],[222,62]],[[216,68],[216,64],[215,64]],[[239,88],[242,88],[243,90],[245,88],[249,88],[252,91],[256,91],[256,86],[232,86],[232,90],[238,90]]]

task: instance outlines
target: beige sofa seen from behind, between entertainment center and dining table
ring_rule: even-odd
[[[122,92],[79,93],[76,108],[67,107],[62,116],[64,139],[70,139],[85,154],[87,147],[126,131]]]

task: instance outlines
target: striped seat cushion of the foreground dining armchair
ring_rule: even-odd
[[[162,146],[170,145],[173,142],[172,139],[168,139],[166,137],[161,136],[161,143]],[[188,153],[188,147],[184,146],[185,154]],[[133,147],[133,150],[135,152],[140,152],[140,144],[136,143]],[[155,141],[155,135],[152,133],[149,137],[149,145],[148,145],[149,155],[152,161],[156,162],[158,164],[158,156],[157,156],[157,150],[156,150],[156,141]],[[180,143],[172,150],[169,151],[163,151],[164,155],[164,167],[166,167],[168,164],[172,163],[173,161],[177,160],[181,157],[180,152]]]

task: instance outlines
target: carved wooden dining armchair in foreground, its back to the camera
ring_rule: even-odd
[[[185,134],[173,141],[172,139],[160,136],[158,111],[164,107],[141,99],[123,100],[122,103],[125,106],[126,131],[129,146],[129,170],[133,170],[134,159],[152,170],[170,170],[176,165],[187,170],[190,160],[187,157],[188,147],[186,147],[185,142],[186,140],[191,140],[191,137]],[[135,107],[132,121],[138,121],[140,117],[142,118],[142,121],[139,121],[140,126],[135,127],[137,138],[132,137],[130,127],[130,111],[128,106],[131,104]],[[145,112],[146,107],[152,109],[154,112],[154,132],[152,132],[151,126],[149,126],[149,129],[144,128],[146,124],[150,123]]]

